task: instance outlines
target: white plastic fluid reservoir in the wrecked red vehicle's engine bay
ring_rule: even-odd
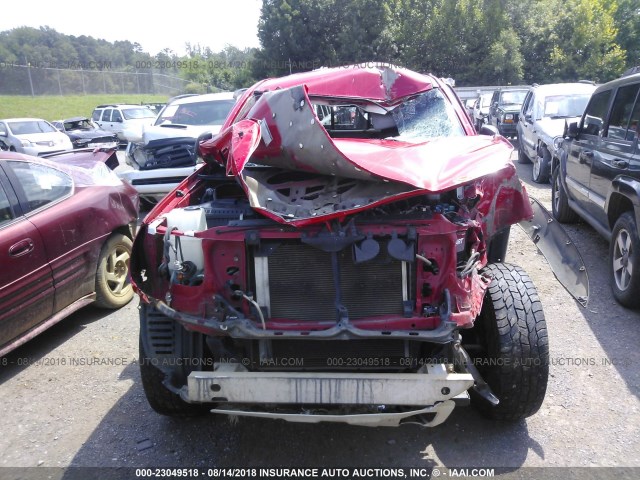
[[[178,235],[171,235],[171,251],[169,252],[171,264],[174,263],[177,256],[178,261],[189,260],[196,265],[198,270],[202,270],[204,268],[202,239],[194,237],[193,234],[207,229],[205,211],[200,207],[175,208],[166,214],[166,218],[167,228],[170,230],[177,228],[184,234],[180,235],[180,246],[177,246],[176,242]]]

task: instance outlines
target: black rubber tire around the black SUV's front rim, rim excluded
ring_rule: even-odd
[[[618,238],[621,233],[626,232],[630,255],[632,273],[631,280],[625,290],[618,288],[613,270],[613,258],[618,249]],[[638,237],[638,226],[633,217],[633,212],[625,212],[616,221],[611,235],[611,244],[609,245],[609,270],[611,290],[614,298],[627,308],[640,307],[640,238]]]

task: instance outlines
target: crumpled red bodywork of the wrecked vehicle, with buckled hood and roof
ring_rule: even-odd
[[[344,101],[384,116],[433,89],[441,92],[447,108],[454,112],[462,135],[456,131],[455,136],[417,143],[402,138],[334,138],[314,107],[314,102],[339,105]],[[197,206],[207,185],[202,178],[213,176],[220,166],[228,179],[235,177],[254,210],[277,222],[255,227],[260,241],[303,242],[321,232],[331,235],[353,218],[358,219],[357,233],[369,238],[415,235],[416,255],[439,269],[429,270],[416,259],[410,260],[415,274],[414,291],[409,295],[412,311],[351,321],[363,330],[437,329],[442,320],[437,308],[446,297],[451,303],[448,320],[460,328],[472,326],[487,288],[487,279],[478,270],[487,263],[488,240],[533,215],[510,161],[509,142],[500,136],[476,135],[453,90],[434,77],[403,69],[323,69],[265,80],[245,92],[221,133],[201,143],[200,150],[209,165],[199,172],[201,178],[191,176],[150,212],[136,240],[132,270],[137,282],[142,279],[136,272],[146,271],[148,280],[137,287],[144,301],[161,306],[165,315],[171,312],[187,328],[209,335],[225,335],[216,323],[225,321],[220,299],[234,312],[260,323],[251,304],[234,295],[234,291],[255,287],[249,273],[254,254],[247,240],[253,227],[222,225],[190,234],[202,239],[204,266],[199,285],[171,283],[158,265],[163,262],[163,249],[166,251],[163,239],[184,234],[167,232],[162,217],[174,208]],[[348,185],[344,187],[347,193],[336,188],[331,195],[332,182],[337,180]],[[432,200],[441,197],[448,199],[445,203],[455,212]],[[375,218],[374,214],[373,221],[371,216],[358,217],[420,199],[426,199],[424,204],[429,207],[424,211],[428,212],[411,220],[384,221],[384,216]],[[152,222],[148,233],[147,225]],[[457,245],[462,239],[466,256],[461,260]],[[468,267],[465,262],[470,262]],[[166,298],[170,306],[164,303]],[[335,325],[313,318],[275,316],[264,323],[268,331],[311,334]]]

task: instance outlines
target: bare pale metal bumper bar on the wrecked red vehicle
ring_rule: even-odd
[[[418,417],[417,423],[435,426],[456,403],[468,401],[473,384],[471,374],[449,373],[443,364],[417,373],[249,372],[240,364],[216,364],[213,372],[191,372],[181,396],[219,403],[212,412],[228,415],[368,426]]]

